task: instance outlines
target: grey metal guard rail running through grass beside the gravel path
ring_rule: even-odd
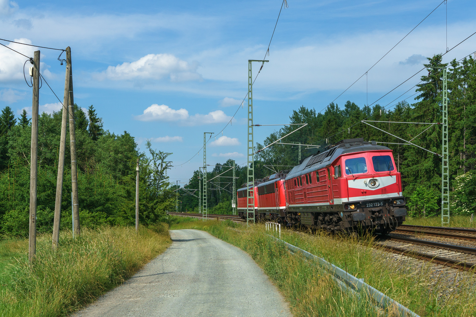
[[[316,260],[318,264],[323,267],[324,269],[327,269],[330,273],[334,275],[334,280],[336,280],[337,284],[347,290],[352,291],[353,293],[356,293],[357,291],[365,291],[367,295],[371,298],[373,298],[377,304],[382,307],[383,309],[389,308],[389,309],[397,309],[401,316],[412,316],[412,317],[420,317],[407,307],[403,306],[402,304],[398,303],[397,301],[393,300],[392,298],[389,298],[387,295],[384,293],[380,292],[376,288],[371,287],[367,283],[363,281],[363,279],[357,279],[355,276],[352,274],[347,273],[345,270],[338,268],[334,264],[327,262],[325,259],[319,258],[315,256],[314,254],[311,254],[305,250],[302,250],[292,244],[289,244],[286,241],[280,240],[276,237],[273,237],[269,235],[270,237],[283,242],[289,250],[292,252],[299,252],[301,253],[305,258],[311,259],[311,260]]]

